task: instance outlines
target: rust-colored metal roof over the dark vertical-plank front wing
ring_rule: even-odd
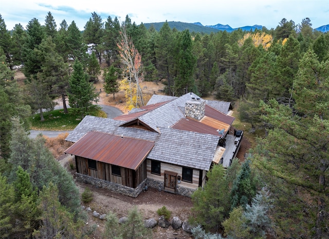
[[[154,142],[90,131],[65,153],[137,170]]]

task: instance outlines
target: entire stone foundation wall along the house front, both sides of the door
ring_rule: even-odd
[[[146,178],[142,183],[140,183],[140,185],[137,188],[133,189],[130,187],[119,185],[117,183],[109,182],[98,178],[93,178],[80,173],[76,173],[75,175],[76,175],[76,179],[80,182],[89,183],[90,185],[94,185],[99,188],[105,188],[110,191],[121,193],[123,195],[127,195],[130,197],[137,197],[143,191],[145,185],[147,185],[149,188],[156,188],[159,191],[164,189],[162,181],[158,181],[150,178]],[[176,186],[176,194],[178,195],[191,197],[194,191],[195,190],[193,189],[180,187],[179,185]]]

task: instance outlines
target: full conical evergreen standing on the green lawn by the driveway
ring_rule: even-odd
[[[97,108],[93,101],[98,101],[98,94],[95,87],[87,81],[87,75],[79,60],[75,60],[73,72],[69,78],[68,103],[75,111],[84,117],[89,111]]]

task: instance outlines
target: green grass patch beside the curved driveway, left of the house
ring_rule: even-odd
[[[74,130],[74,128],[81,122],[82,118],[81,115],[72,114],[71,108],[68,108],[68,112],[68,114],[64,114],[63,109],[44,112],[44,121],[41,121],[40,114],[32,115],[30,117],[31,130]],[[106,113],[101,110],[97,110],[90,115],[106,118]]]

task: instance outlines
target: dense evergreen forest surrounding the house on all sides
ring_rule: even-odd
[[[232,102],[251,125],[247,159],[213,167],[193,194],[194,238],[329,238],[329,34],[307,17],[205,34],[96,12],[83,31],[50,12],[9,31],[0,15],[0,58],[0,238],[88,238],[77,187],[44,139],[28,137],[28,117],[56,97],[87,115],[101,67],[108,94],[129,81],[128,107],[144,104],[139,82],[162,81],[170,96]]]

